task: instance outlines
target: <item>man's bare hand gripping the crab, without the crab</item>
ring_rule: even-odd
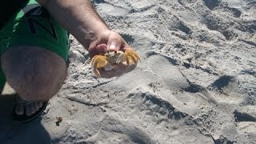
[[[101,34],[98,34],[98,37],[90,42],[90,47],[88,49],[90,58],[93,58],[95,55],[104,55],[106,51],[117,51],[122,50],[123,52],[126,50],[133,50],[130,46],[125,42],[125,40],[120,36],[120,34],[106,30]],[[112,78],[115,76],[122,75],[131,70],[134,70],[136,67],[135,63],[131,63],[130,65],[126,65],[124,63],[119,63],[112,70],[104,70],[104,68],[98,69],[101,74],[101,78]]]

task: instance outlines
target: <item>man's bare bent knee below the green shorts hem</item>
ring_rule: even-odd
[[[7,82],[26,100],[48,100],[66,78],[64,59],[39,47],[12,48],[1,60]]]

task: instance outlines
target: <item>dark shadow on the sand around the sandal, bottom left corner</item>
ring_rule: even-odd
[[[0,95],[0,143],[51,143],[40,118],[22,124],[12,121],[13,99],[14,94]]]

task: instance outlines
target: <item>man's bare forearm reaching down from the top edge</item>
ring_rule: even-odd
[[[61,26],[88,49],[97,34],[108,27],[90,5],[90,0],[38,0]]]

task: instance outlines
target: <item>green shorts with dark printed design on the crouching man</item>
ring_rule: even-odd
[[[30,0],[0,30],[1,55],[17,46],[39,46],[58,54],[65,61],[68,59],[68,33],[35,0]],[[5,75],[0,69],[1,90],[5,82]]]

